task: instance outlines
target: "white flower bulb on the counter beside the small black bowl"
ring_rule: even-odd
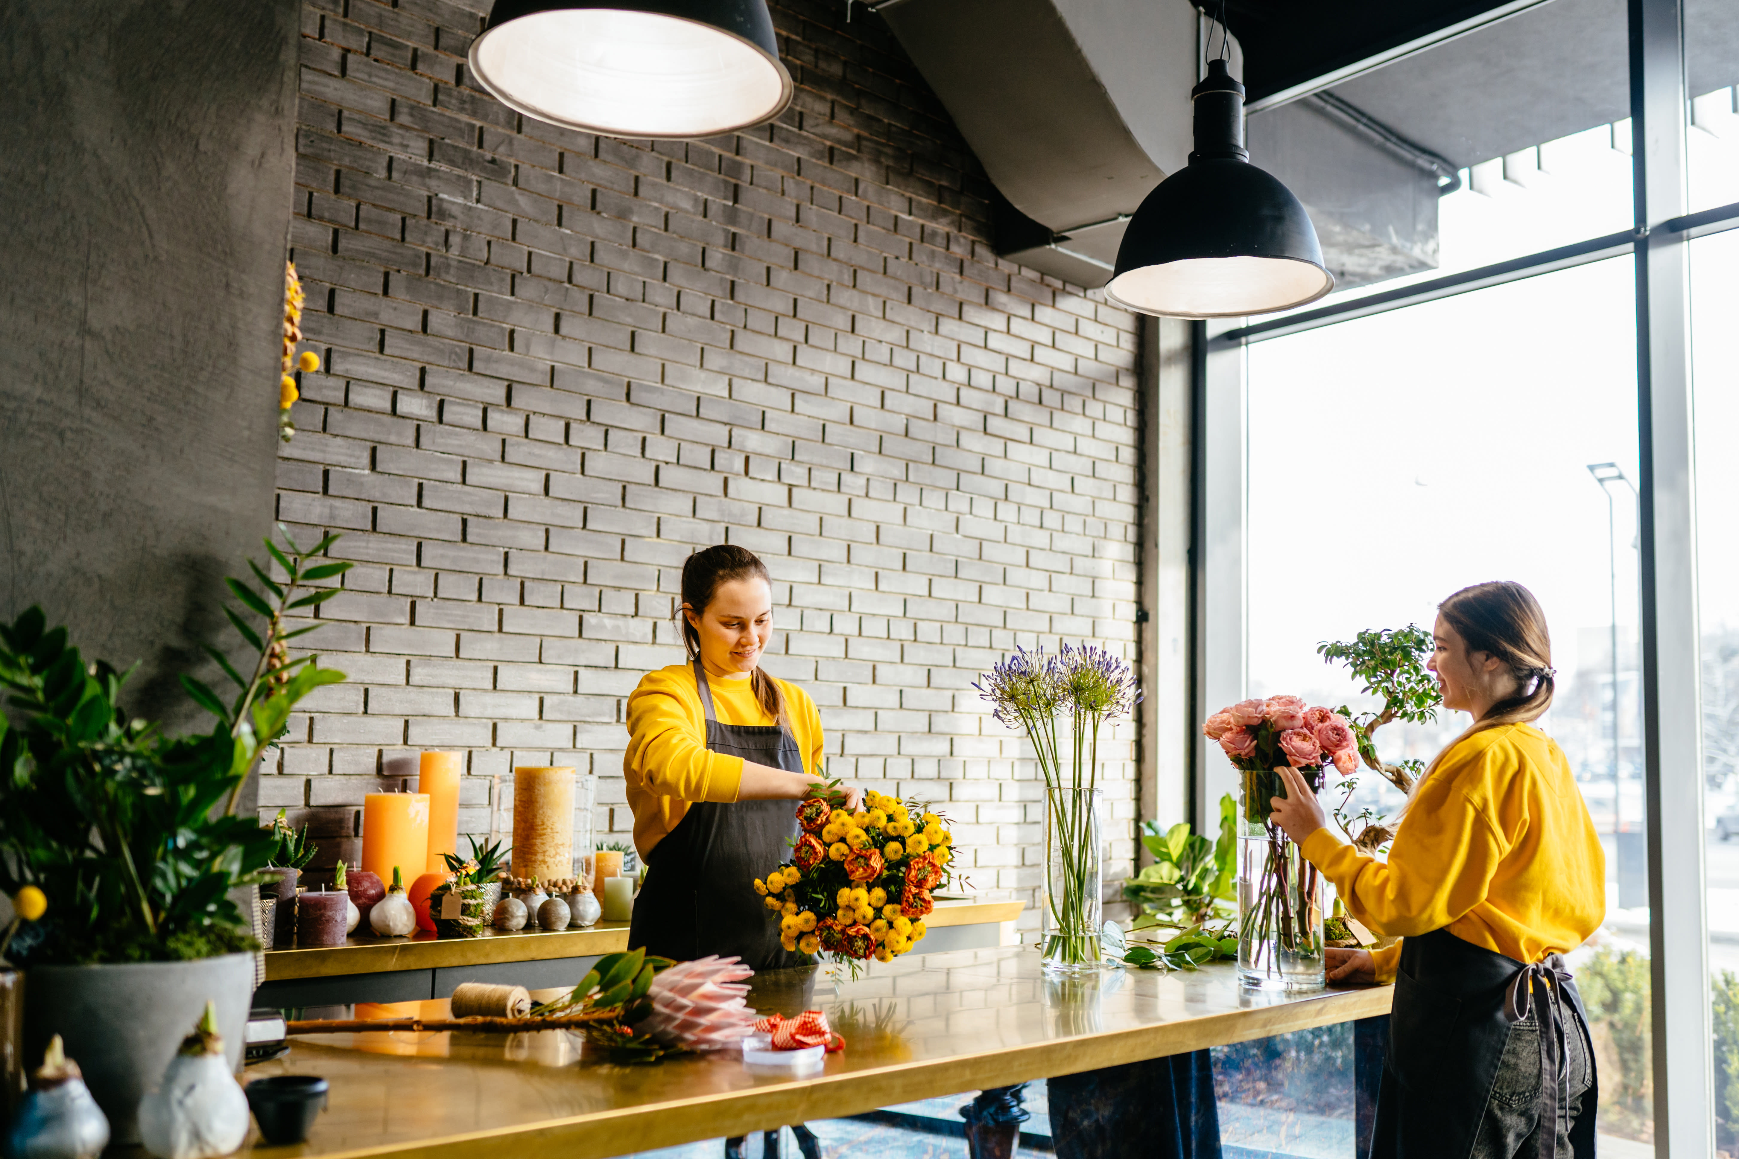
[[[228,1156],[247,1138],[247,1095],[224,1058],[216,1003],[205,1003],[163,1084],[139,1100],[139,1138],[160,1159]]]

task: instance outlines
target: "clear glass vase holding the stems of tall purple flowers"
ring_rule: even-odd
[[[1097,789],[1045,792],[1045,905],[1040,947],[1045,970],[1099,968],[1104,853]]]

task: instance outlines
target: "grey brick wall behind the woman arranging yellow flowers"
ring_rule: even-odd
[[[821,705],[828,772],[943,803],[972,883],[1033,898],[1042,794],[970,681],[1016,643],[1134,659],[1134,320],[995,257],[976,158],[863,10],[776,0],[777,123],[633,142],[482,92],[483,9],[304,5],[292,252],[323,367],[278,518],[356,566],[306,638],[350,681],[304,702],[261,810],[353,848],[363,792],[459,747],[461,829],[489,777],[556,761],[621,839],[624,697],[682,659],[683,558],[730,540],[776,577],[769,669]]]

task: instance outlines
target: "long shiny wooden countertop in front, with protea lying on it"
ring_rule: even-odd
[[[810,1077],[750,1074],[734,1055],[612,1065],[567,1030],[367,1032],[292,1039],[249,1067],[318,1074],[329,1110],[306,1143],[263,1159],[605,1159],[805,1119],[1009,1086],[1384,1015],[1391,987],[1250,994],[1231,964],[1045,977],[1031,949],[909,954],[863,978],[760,975],[751,1003],[819,1008],[847,1037]],[[546,992],[553,996],[555,992]],[[445,1001],[358,1017],[445,1015]]]

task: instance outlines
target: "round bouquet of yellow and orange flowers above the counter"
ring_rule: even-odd
[[[885,963],[923,940],[932,895],[955,876],[939,813],[880,792],[847,811],[843,792],[816,785],[796,820],[791,860],[755,879],[788,952]]]

